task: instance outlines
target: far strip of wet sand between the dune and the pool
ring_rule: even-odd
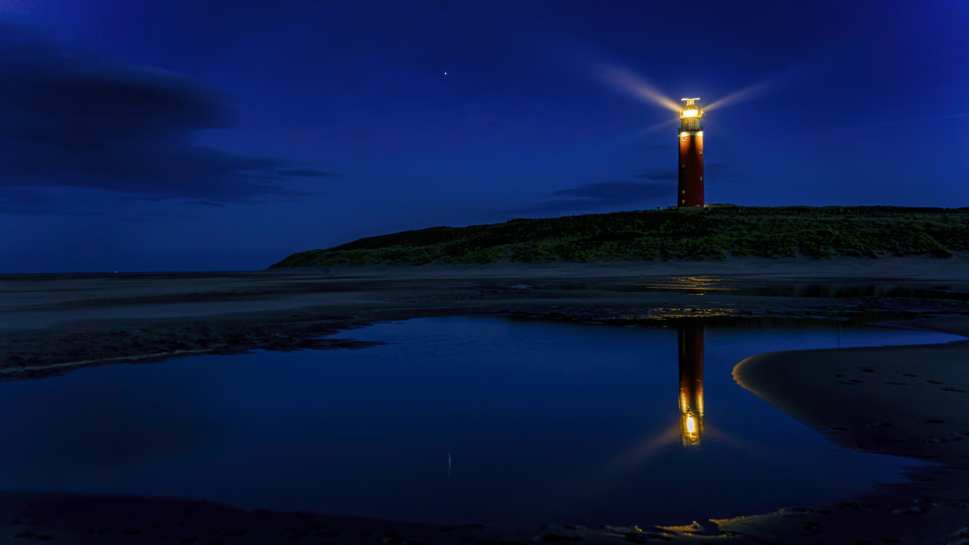
[[[252,349],[353,348],[321,339],[375,321],[504,314],[582,321],[693,317],[840,317],[861,321],[969,312],[954,300],[824,299],[702,293],[535,290],[569,281],[703,275],[797,282],[945,282],[969,291],[969,265],[936,258],[832,262],[749,258],[725,263],[489,264],[318,270],[0,276],[0,380],[80,366],[153,362]]]

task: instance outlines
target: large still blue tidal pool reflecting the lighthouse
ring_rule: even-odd
[[[960,338],[820,321],[677,330],[498,317],[337,337],[389,344],[0,383],[0,490],[498,529],[763,513],[898,481],[916,463],[834,448],[737,386],[737,362]]]

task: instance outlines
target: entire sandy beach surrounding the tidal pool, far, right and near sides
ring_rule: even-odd
[[[7,379],[16,379],[85,365],[158,361],[183,354],[357,347],[365,344],[312,337],[380,320],[474,312],[604,323],[711,316],[838,316],[873,321],[969,314],[969,304],[948,300],[831,300],[720,292],[697,296],[516,287],[563,277],[604,281],[648,273],[727,274],[804,282],[888,277],[895,282],[953,286],[965,283],[962,278],[967,277],[962,263],[941,259],[851,260],[847,264],[821,263],[820,267],[814,266],[817,262],[800,260],[745,261],[726,269],[718,266],[727,264],[691,263],[648,272],[574,265],[485,266],[456,269],[451,274],[445,268],[369,268],[335,275],[313,271],[74,278],[8,275],[0,277],[4,292],[0,312],[5,316],[0,330],[0,346],[5,350],[2,368],[8,371]],[[871,268],[874,265],[877,270]],[[969,335],[966,318],[907,325]],[[969,535],[965,529],[969,527],[969,471],[962,465],[969,451],[958,450],[967,448],[965,441],[953,440],[961,438],[960,433],[969,435],[969,404],[965,401],[969,394],[953,391],[969,390],[969,375],[960,372],[967,349],[969,341],[931,347],[775,353],[745,360],[736,370],[742,385],[813,428],[846,428],[828,433],[835,444],[928,458],[944,465],[920,469],[915,484],[883,487],[836,505],[717,521],[724,532],[720,535],[645,526],[495,533],[318,513],[248,511],[177,498],[8,492],[0,493],[0,517],[9,523],[0,529],[0,543],[969,543],[955,535]],[[888,378],[869,378],[883,374]],[[918,376],[904,376],[909,374]],[[941,384],[917,384],[918,380]],[[945,390],[947,386],[952,389]],[[714,525],[704,524],[714,529]]]

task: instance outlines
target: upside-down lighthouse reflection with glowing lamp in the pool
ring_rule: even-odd
[[[680,326],[679,429],[683,446],[700,446],[703,438],[703,326]]]

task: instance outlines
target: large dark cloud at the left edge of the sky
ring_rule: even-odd
[[[69,54],[0,25],[0,187],[226,202],[295,197],[281,182],[330,176],[192,144],[195,131],[232,124],[228,101],[200,81]]]

